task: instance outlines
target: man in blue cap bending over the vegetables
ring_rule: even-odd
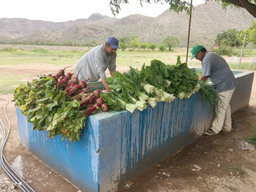
[[[105,71],[109,68],[110,75],[115,76],[116,50],[120,49],[119,41],[115,37],[109,37],[104,45],[99,45],[89,50],[76,63],[76,74],[79,72],[79,80],[98,81],[101,78],[106,91],[110,91],[106,81]],[[89,82],[88,81],[88,82]]]

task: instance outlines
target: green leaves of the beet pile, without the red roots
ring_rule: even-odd
[[[79,140],[86,121],[80,103],[76,99],[67,101],[70,97],[65,90],[56,90],[53,77],[38,77],[15,89],[15,105],[28,117],[33,130],[46,130],[50,138],[62,133],[63,139]]]

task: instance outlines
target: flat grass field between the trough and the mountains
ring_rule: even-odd
[[[0,67],[4,66],[24,66],[24,70],[29,65],[33,66],[59,66],[59,68],[67,66],[75,66],[77,60],[83,56],[88,47],[59,47],[58,46],[0,46]],[[255,51],[244,50],[246,53],[255,53]],[[186,49],[179,49],[175,51],[151,51],[151,50],[140,50],[140,51],[122,51],[118,50],[118,58],[116,64],[118,68],[132,66],[140,69],[142,64],[149,65],[153,59],[161,60],[166,64],[176,64],[177,56],[181,57],[181,62],[186,62]],[[191,54],[188,54],[188,67],[201,67],[201,62],[196,59],[190,60]],[[223,55],[226,59],[226,56]],[[254,71],[253,65],[249,66],[249,58],[256,57],[253,54],[247,54],[242,57],[240,66],[232,66],[229,63],[231,69],[239,70],[251,70]],[[53,71],[55,72],[55,71]],[[34,74],[40,75],[40,74]],[[0,94],[12,93],[17,85],[25,84],[23,78],[29,76],[24,74],[19,75],[9,71],[8,73],[1,68],[0,81]],[[31,79],[32,81],[32,79]]]

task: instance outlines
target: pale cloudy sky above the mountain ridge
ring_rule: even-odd
[[[190,1],[190,0],[189,0]],[[3,0],[1,1],[0,18],[25,18],[31,20],[45,20],[62,22],[76,19],[87,19],[92,14],[102,14],[114,17],[110,10],[109,0]],[[193,5],[203,3],[203,0],[193,0]],[[167,3],[144,3],[139,0],[129,0],[129,4],[122,4],[121,11],[116,18],[123,18],[132,14],[158,16],[166,11]]]

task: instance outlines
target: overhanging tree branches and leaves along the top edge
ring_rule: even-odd
[[[168,3],[170,5],[170,11],[182,12],[186,11],[188,15],[192,15],[190,11],[190,1],[180,1],[180,0],[138,0],[141,3]],[[209,0],[205,0],[206,3]],[[256,4],[253,0],[215,0],[216,2],[222,2],[222,9],[226,10],[227,6],[235,7],[235,8],[245,8],[251,15],[256,18]],[[110,9],[113,15],[119,14],[121,10],[120,5],[122,3],[128,4],[128,0],[110,0]],[[193,8],[193,5],[192,5]]]

